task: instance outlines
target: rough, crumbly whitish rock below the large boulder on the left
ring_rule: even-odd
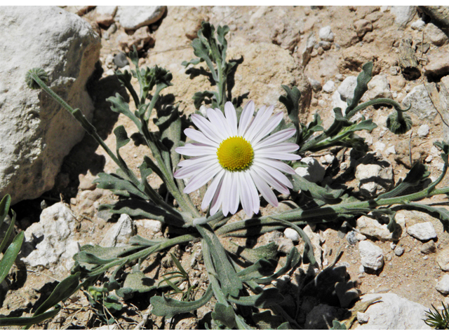
[[[74,239],[77,225],[76,217],[63,203],[43,209],[39,223],[25,230],[22,247],[25,265],[55,267],[55,272],[67,272],[74,265],[72,257],[79,252],[79,244]]]

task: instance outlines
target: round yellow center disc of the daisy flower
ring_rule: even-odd
[[[230,137],[223,140],[218,147],[217,157],[223,168],[239,172],[253,163],[254,151],[250,143],[242,137]]]

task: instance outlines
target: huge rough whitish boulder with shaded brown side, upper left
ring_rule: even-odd
[[[91,25],[58,7],[3,7],[0,31],[0,198],[13,203],[53,188],[62,159],[84,134],[81,126],[25,73],[41,67],[49,84],[91,118],[86,82],[99,58],[100,38]]]

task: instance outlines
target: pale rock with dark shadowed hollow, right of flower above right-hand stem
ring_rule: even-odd
[[[359,181],[360,193],[373,197],[384,193],[394,185],[393,168],[380,165],[358,165],[356,179]]]

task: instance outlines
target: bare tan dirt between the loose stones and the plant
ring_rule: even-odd
[[[116,55],[126,50],[127,44],[135,41],[135,36],[131,31],[125,31],[117,25],[113,33],[108,33],[108,39],[105,38],[107,27],[99,26],[95,23],[95,10],[90,10],[82,16],[83,19],[91,22],[95,29],[102,34],[102,50],[100,60],[104,72],[102,77],[91,88],[91,97],[95,102],[95,112],[93,124],[100,132],[100,136],[105,139],[110,148],[115,148],[115,137],[112,130],[118,125],[124,125],[128,134],[137,132],[135,126],[123,115],[118,116],[109,110],[109,103],[105,102],[107,97],[120,92],[125,96],[123,87],[120,83],[108,74],[108,70],[114,69],[114,65],[107,63],[108,55]],[[201,76],[189,80],[181,62],[194,58],[190,43],[194,37],[194,31],[199,29],[201,20],[209,20],[215,27],[217,25],[228,25],[230,27],[228,38],[229,57],[239,58],[243,56],[243,63],[239,66],[236,73],[236,85],[234,90],[236,94],[245,94],[249,92],[249,98],[255,101],[256,106],[262,104],[274,104],[276,109],[282,109],[283,106],[277,101],[277,97],[282,92],[280,84],[298,85],[305,77],[312,77],[319,80],[324,85],[328,80],[334,80],[335,86],[347,76],[357,76],[361,71],[361,64],[368,60],[374,60],[375,74],[384,73],[389,80],[391,92],[395,92],[395,100],[401,102],[410,90],[422,83],[428,83],[429,78],[420,76],[416,80],[406,80],[401,73],[393,75],[391,68],[398,68],[398,46],[402,38],[413,38],[414,41],[427,43],[422,31],[414,30],[410,24],[417,20],[419,15],[404,28],[400,29],[394,22],[395,17],[390,10],[380,8],[380,6],[335,6],[320,7],[311,9],[308,7],[168,7],[166,15],[156,24],[149,26],[148,34],[152,40],[143,44],[140,49],[142,65],[166,67],[173,73],[173,87],[169,87],[165,94],[173,94],[175,102],[180,104],[180,111],[185,116],[194,113],[192,96],[197,90],[207,90],[208,82]],[[373,29],[367,31],[363,37],[359,37],[354,29],[354,22],[358,20],[368,20],[372,22]],[[316,34],[321,27],[330,25],[335,41],[333,41],[329,50],[317,48],[311,53],[311,59],[305,67],[302,66],[302,50],[307,43],[307,37],[311,32]],[[298,34],[299,32],[299,34]],[[422,40],[424,36],[424,41]],[[260,50],[255,47],[258,46]],[[429,54],[435,52],[438,48],[443,48],[431,44]],[[272,57],[270,52],[279,52],[279,62],[274,62],[276,57]],[[127,51],[127,50],[126,50]],[[257,55],[262,52],[262,55]],[[263,54],[265,52],[265,54]],[[424,55],[423,59],[427,56]],[[110,57],[109,57],[110,58]],[[265,64],[264,62],[267,62]],[[271,63],[270,63],[271,62]],[[426,63],[422,61],[420,68]],[[108,67],[109,66],[109,67]],[[304,73],[304,75],[302,74]],[[259,76],[259,77],[257,77]],[[305,76],[305,77],[304,77]],[[262,78],[259,80],[259,78]],[[137,86],[137,83],[134,83]],[[300,85],[298,85],[300,86]],[[311,91],[309,105],[304,109],[301,118],[303,122],[309,122],[314,113],[319,113],[325,120],[325,126],[333,119],[332,116],[332,94],[323,91]],[[132,100],[132,99],[131,99]],[[245,104],[245,101],[243,101]],[[130,103],[131,110],[133,103]],[[374,144],[381,141],[386,145],[395,146],[396,153],[381,153],[382,158],[388,160],[394,169],[394,180],[406,176],[410,169],[410,158],[416,162],[424,162],[429,155],[433,159],[429,162],[429,171],[431,176],[436,178],[441,173],[438,170],[438,163],[441,158],[435,154],[433,149],[434,141],[443,139],[443,123],[441,115],[436,116],[434,120],[420,120],[413,113],[413,131],[401,136],[385,132],[385,120],[390,113],[386,107],[370,107],[363,111],[366,118],[373,118],[373,121],[379,125],[373,132],[360,132],[362,137],[366,137],[368,144],[374,151]],[[430,132],[426,137],[417,135],[417,129],[427,123]],[[153,130],[156,127],[152,125]],[[143,155],[149,155],[148,148],[143,146],[139,137],[131,136],[133,141],[121,151],[123,160],[128,162],[129,167],[135,168],[138,172],[138,165],[141,163]],[[323,151],[323,153],[314,153],[314,157],[320,161],[324,155],[333,153],[337,158],[337,167],[344,162],[343,151]],[[340,169],[335,170],[335,162],[331,165],[325,165],[327,168],[327,180],[332,187],[332,179],[338,175]],[[116,216],[106,218],[98,216],[98,205],[109,204],[117,200],[107,190],[98,190],[93,186],[93,176],[99,172],[114,172],[115,164],[105,155],[102,148],[88,135],[84,137],[72,152],[67,155],[62,165],[61,172],[55,183],[55,188],[43,195],[43,197],[24,201],[16,204],[15,211],[19,214],[19,228],[25,230],[29,225],[39,221],[41,202],[45,201],[51,205],[59,202],[60,198],[74,212],[79,220],[79,231],[76,239],[80,244],[98,244],[114,222]],[[346,185],[352,188],[358,188],[358,182],[355,179],[354,172],[349,172]],[[448,178],[441,183],[448,185]],[[149,183],[154,188],[159,188],[161,181],[152,177]],[[95,201],[86,197],[95,193]],[[91,197],[92,198],[92,197]],[[196,205],[201,202],[199,194],[194,194]],[[426,202],[447,202],[445,197],[434,197]],[[26,216],[20,216],[21,209],[28,209]],[[449,244],[449,234],[443,231],[443,225],[435,218],[427,214],[415,211],[403,211],[406,216],[406,225],[430,221],[438,235],[435,239],[436,251]],[[236,214],[243,216],[241,213]],[[109,220],[108,220],[109,219]],[[321,248],[323,250],[323,267],[329,265],[335,258],[335,252],[341,248],[342,257],[339,262],[347,266],[347,271],[352,281],[356,281],[361,293],[396,293],[408,300],[420,302],[426,307],[441,306],[441,301],[448,302],[435,289],[436,282],[444,274],[436,263],[436,253],[424,255],[420,252],[422,242],[405,235],[399,241],[394,243],[403,246],[405,249],[403,255],[395,255],[391,248],[391,241],[375,241],[377,246],[384,251],[384,267],[380,272],[368,274],[360,272],[361,256],[357,245],[351,245],[345,239],[341,229],[342,223],[332,223],[327,226],[319,226],[315,232],[321,239]],[[152,232],[145,232],[142,227],[138,227],[138,235],[142,237],[153,237]],[[167,232],[162,232],[165,237]],[[189,265],[192,253],[200,248],[199,243],[183,246],[182,251],[175,251],[180,256],[183,265]],[[159,258],[159,260],[156,260]],[[194,258],[199,258],[198,255]],[[201,258],[199,258],[200,260]],[[162,260],[162,261],[161,261]],[[166,260],[164,263],[163,260]],[[159,266],[154,267],[147,276],[157,276],[169,272],[168,254],[156,255],[147,260],[148,265],[154,261],[159,261]],[[165,265],[165,266],[164,266]],[[68,274],[68,272],[67,272]],[[51,293],[56,285],[55,280],[64,279],[67,274],[55,274],[51,269],[25,269],[20,265],[15,266],[11,276],[11,286],[6,297],[1,298],[3,307],[0,309],[0,315],[21,316],[32,313],[31,307],[41,300],[42,297]],[[197,281],[199,290],[196,297],[201,297],[207,287],[207,276],[204,265],[196,262],[195,267],[189,270],[192,281]],[[293,279],[293,274],[292,274]],[[176,329],[194,329],[199,328],[201,318],[210,309],[213,309],[213,302],[209,302],[206,307],[202,307],[196,314],[186,314],[175,318],[171,328]],[[149,295],[142,295],[130,302],[126,302],[126,313],[122,318],[116,321],[116,328],[130,329],[135,328],[142,319],[148,318],[145,328],[170,328],[170,321],[152,316],[149,314]],[[94,328],[104,323],[100,323],[92,309],[89,308],[88,301],[83,293],[71,297],[66,303],[62,312],[51,321],[34,325],[32,328]],[[174,326],[173,326],[174,325]],[[357,323],[354,324],[355,326]]]

